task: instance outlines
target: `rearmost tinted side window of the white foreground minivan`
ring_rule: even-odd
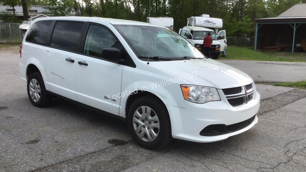
[[[51,20],[43,20],[33,23],[25,40],[32,43],[45,45],[47,33],[51,23]]]

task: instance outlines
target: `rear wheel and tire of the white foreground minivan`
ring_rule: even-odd
[[[51,103],[52,96],[46,91],[43,77],[39,72],[34,72],[28,77],[28,97],[36,107],[45,107]]]

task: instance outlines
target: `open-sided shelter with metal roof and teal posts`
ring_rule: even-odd
[[[295,43],[302,42],[303,38],[306,39],[306,4],[296,4],[278,17],[255,19],[255,21],[255,51],[258,47],[282,42],[287,45],[292,43],[292,52],[294,52]]]

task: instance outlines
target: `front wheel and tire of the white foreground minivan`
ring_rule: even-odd
[[[172,140],[168,110],[156,98],[136,99],[129,109],[128,126],[136,143],[146,149],[163,148]]]

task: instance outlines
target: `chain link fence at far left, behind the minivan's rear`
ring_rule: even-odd
[[[0,23],[0,43],[21,41],[23,33],[18,23]]]

